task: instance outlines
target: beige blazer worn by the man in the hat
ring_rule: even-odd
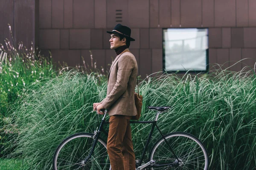
[[[107,96],[100,102],[109,116],[137,114],[134,102],[137,73],[137,61],[131,52],[116,56],[108,73]]]

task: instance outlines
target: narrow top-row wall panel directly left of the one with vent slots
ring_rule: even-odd
[[[95,28],[107,26],[107,0],[95,0]]]

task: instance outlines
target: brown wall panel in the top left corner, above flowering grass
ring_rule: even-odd
[[[0,43],[5,46],[4,40],[7,38],[9,41],[12,42],[12,36],[9,31],[8,24],[11,25],[12,32],[13,30],[13,17],[14,17],[14,8],[13,8],[13,1],[0,1]]]

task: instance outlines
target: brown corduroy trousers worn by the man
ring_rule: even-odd
[[[135,170],[130,119],[124,115],[109,118],[107,150],[112,170]]]

